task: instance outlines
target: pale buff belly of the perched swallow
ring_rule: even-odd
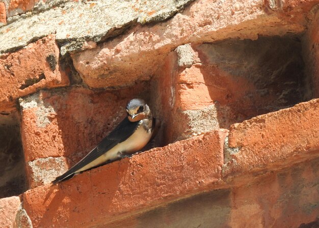
[[[149,133],[144,129],[143,126],[140,126],[131,136],[129,136],[122,143],[117,144],[108,152],[104,153],[94,161],[90,162],[81,169],[78,169],[76,172],[82,172],[99,164],[102,164],[109,160],[114,160],[118,158],[119,152],[125,154],[132,154],[141,150],[148,143],[152,136],[152,132]]]

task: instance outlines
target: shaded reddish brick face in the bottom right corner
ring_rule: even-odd
[[[256,181],[232,189],[229,226],[317,227],[319,159],[269,172]]]

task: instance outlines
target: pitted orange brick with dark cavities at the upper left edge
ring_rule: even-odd
[[[43,88],[68,86],[59,66],[55,36],[29,44],[20,51],[0,57],[0,111],[10,110],[17,98]]]

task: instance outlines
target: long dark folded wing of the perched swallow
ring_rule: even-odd
[[[104,137],[87,156],[85,156],[81,161],[77,162],[65,174],[57,177],[54,181],[52,181],[52,183],[55,184],[59,181],[71,178],[69,176],[74,174],[78,169],[83,168],[105,152],[111,150],[117,144],[125,141],[130,135],[132,135],[132,133],[136,131],[139,125],[140,121],[130,122],[127,118],[125,118],[109,135]]]

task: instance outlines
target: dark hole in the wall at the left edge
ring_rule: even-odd
[[[0,113],[0,198],[19,195],[26,188],[18,113]]]

